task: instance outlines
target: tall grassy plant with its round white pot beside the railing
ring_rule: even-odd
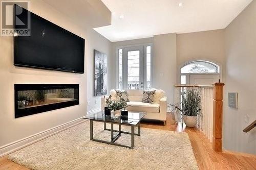
[[[181,92],[181,102],[176,105],[170,105],[177,111],[180,111],[187,127],[197,125],[197,116],[201,112],[201,96],[196,88],[191,88]]]

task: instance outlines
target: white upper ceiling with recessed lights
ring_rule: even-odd
[[[114,42],[165,33],[224,29],[252,0],[101,1],[112,12],[112,25],[95,30]]]

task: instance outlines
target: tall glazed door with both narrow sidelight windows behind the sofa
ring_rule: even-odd
[[[117,87],[152,88],[152,44],[117,48]]]

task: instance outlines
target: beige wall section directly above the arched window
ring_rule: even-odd
[[[193,60],[207,60],[222,66],[221,71],[224,75],[226,60],[224,34],[224,29],[177,34],[178,69]]]

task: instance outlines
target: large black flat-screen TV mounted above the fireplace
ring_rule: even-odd
[[[14,5],[14,16],[16,8]],[[14,24],[14,65],[84,73],[84,39],[27,11],[18,13],[26,20],[30,14],[30,36],[19,35]],[[27,13],[26,13],[27,12]],[[16,23],[14,17],[14,23]]]

